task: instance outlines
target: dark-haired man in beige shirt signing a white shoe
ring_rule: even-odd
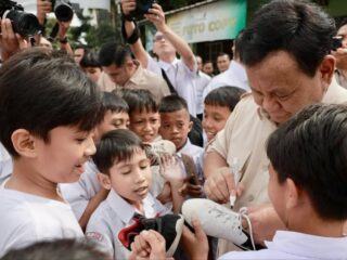
[[[258,243],[285,229],[267,195],[269,134],[308,104],[347,102],[347,91],[333,78],[333,35],[334,23],[327,14],[313,3],[294,0],[264,5],[244,31],[241,60],[252,94],[241,100],[207,150],[205,193],[219,203],[228,203],[230,194],[236,193],[234,210],[248,207]],[[229,167],[234,157],[241,169],[237,188]],[[219,249],[226,251],[222,245]]]

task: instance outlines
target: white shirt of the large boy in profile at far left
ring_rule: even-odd
[[[68,204],[0,186],[0,257],[36,242],[83,237]]]

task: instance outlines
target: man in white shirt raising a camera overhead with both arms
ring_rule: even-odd
[[[196,116],[195,78],[197,65],[189,44],[176,35],[165,23],[162,6],[153,3],[149,10],[140,10],[136,0],[121,0],[123,32],[131,51],[144,68],[163,76],[171,92],[178,93],[187,100],[189,112]],[[143,3],[142,3],[143,5]],[[152,58],[144,50],[134,15],[144,12],[144,17],[156,27],[153,38],[153,52],[158,61]],[[176,58],[178,53],[181,58]]]

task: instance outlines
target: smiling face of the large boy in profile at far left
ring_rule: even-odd
[[[78,127],[56,127],[49,132],[49,141],[35,138],[36,170],[44,181],[76,182],[85,172],[85,162],[95,153],[92,132]]]

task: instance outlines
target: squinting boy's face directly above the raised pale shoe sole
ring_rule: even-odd
[[[143,109],[134,110],[130,115],[130,130],[141,138],[142,142],[152,143],[158,135],[160,118],[158,112]]]

